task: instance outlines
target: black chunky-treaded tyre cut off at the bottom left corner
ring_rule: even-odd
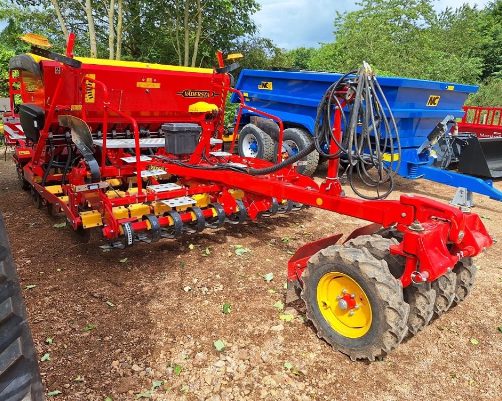
[[[19,279],[0,214],[0,399],[42,401],[44,388]]]

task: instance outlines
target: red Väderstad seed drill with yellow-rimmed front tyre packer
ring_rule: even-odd
[[[420,196],[368,200],[342,191],[338,156],[350,142],[340,105],[352,89],[335,88],[328,99],[333,156],[319,185],[297,172],[306,154],[284,159],[282,122],[259,110],[279,124],[280,163],[232,154],[235,137],[223,151],[228,92],[241,98],[239,115],[249,108],[230,87],[235,63],[225,66],[221,54],[215,69],[82,59],[73,41],[65,56],[34,46],[11,60],[4,124],[21,187],[35,207],[63,213],[78,239],[96,230],[127,248],[305,207],[367,220],[344,244],[341,234],[306,244],[288,264],[287,301],[301,296],[319,337],[352,359],[386,355],[470,291],[470,258],[492,244],[477,215]],[[354,84],[362,80],[376,84],[366,67]],[[385,118],[365,122],[375,128]],[[360,134],[354,129],[350,140]]]

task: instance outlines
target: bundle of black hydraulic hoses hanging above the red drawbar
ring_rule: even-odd
[[[332,124],[333,112],[336,108],[343,110],[341,102],[348,108],[348,118],[344,112],[342,118],[342,140],[335,138]],[[384,111],[387,109],[386,115]],[[396,135],[397,158],[392,133]],[[325,145],[333,140],[338,149],[326,152]],[[376,80],[369,65],[364,62],[358,70],[342,75],[325,92],[317,107],[314,125],[314,141],[281,163],[260,169],[248,169],[252,175],[270,174],[301,160],[309,153],[317,150],[320,156],[347,163],[346,175],[353,191],[364,199],[384,199],[394,189],[395,171],[399,169],[401,160],[401,144],[396,121],[389,107],[384,92]],[[389,155],[390,153],[390,155]],[[389,155],[390,167],[383,163],[384,154]],[[397,165],[393,168],[394,161]],[[376,177],[368,173],[370,168],[376,169]],[[376,196],[367,196],[359,192],[354,185],[354,172],[364,185],[376,188]],[[389,188],[381,193],[383,185]]]

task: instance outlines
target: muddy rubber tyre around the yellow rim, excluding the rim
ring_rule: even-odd
[[[366,334],[347,338],[322,316],[317,303],[319,280],[329,272],[341,272],[355,280],[371,302],[372,323]],[[403,300],[403,287],[390,273],[387,262],[378,260],[366,249],[334,245],[319,251],[302,274],[301,297],[307,306],[307,318],[334,349],[350,359],[375,360],[396,348],[406,335],[409,306]]]

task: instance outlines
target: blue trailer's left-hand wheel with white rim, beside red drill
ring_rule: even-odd
[[[272,161],[274,140],[254,124],[247,124],[239,132],[239,155]]]

